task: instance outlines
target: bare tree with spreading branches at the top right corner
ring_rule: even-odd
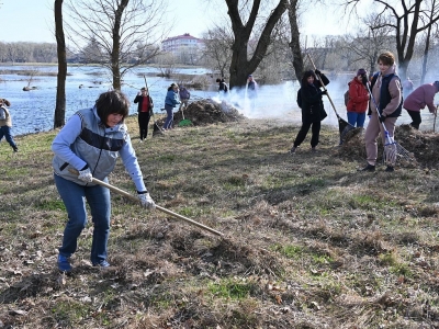
[[[348,0],[345,3],[347,7],[356,7],[360,1]],[[439,20],[437,4],[425,0],[373,0],[373,2],[381,7],[379,15],[390,18],[375,29],[389,26],[395,32],[399,75],[405,79],[417,35]]]

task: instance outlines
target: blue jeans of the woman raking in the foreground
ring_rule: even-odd
[[[55,184],[68,214],[59,254],[69,258],[78,247],[78,237],[87,225],[86,200],[93,220],[93,239],[90,260],[92,264],[106,260],[106,245],[110,235],[111,201],[110,190],[101,186],[82,186],[57,174]],[[103,180],[108,182],[105,178]]]

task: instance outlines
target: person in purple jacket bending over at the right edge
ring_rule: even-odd
[[[426,83],[416,88],[404,101],[404,109],[412,117],[410,126],[419,129],[421,123],[420,110],[426,105],[430,113],[436,113],[434,104],[435,94],[439,91],[439,81],[434,83]]]

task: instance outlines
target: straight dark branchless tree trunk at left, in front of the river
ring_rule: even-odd
[[[54,128],[63,127],[66,124],[66,77],[67,56],[66,41],[63,26],[63,0],[55,0],[55,36],[58,55],[58,76],[56,89],[56,107],[54,114]]]

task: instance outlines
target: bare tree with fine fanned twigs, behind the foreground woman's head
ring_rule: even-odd
[[[155,46],[165,11],[164,0],[69,0],[71,39],[102,54],[97,64],[109,69],[114,89],[124,75],[157,56]],[[95,58],[95,53],[90,58]]]

